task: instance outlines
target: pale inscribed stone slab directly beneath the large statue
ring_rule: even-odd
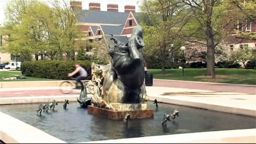
[[[111,103],[115,110],[146,110],[147,104],[125,104],[125,103]]]

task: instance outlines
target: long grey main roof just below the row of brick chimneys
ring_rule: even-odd
[[[78,22],[124,25],[129,13],[99,10],[73,10]]]

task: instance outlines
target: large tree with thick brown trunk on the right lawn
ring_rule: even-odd
[[[185,26],[187,33],[180,38],[207,47],[208,76],[215,78],[215,48],[226,37],[234,33],[238,21],[254,21],[255,1],[239,0],[182,0],[193,17]],[[202,43],[206,41],[206,43]]]

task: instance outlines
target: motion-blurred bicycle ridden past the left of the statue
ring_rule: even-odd
[[[71,93],[73,90],[81,90],[81,84],[75,84],[75,79],[76,78],[71,78],[72,81],[63,81],[60,83],[59,85],[59,90],[61,93],[63,94],[69,94]],[[88,76],[82,80],[83,83],[85,83],[86,81],[89,81],[91,79],[91,74],[88,74]],[[85,85],[85,84],[84,84]]]

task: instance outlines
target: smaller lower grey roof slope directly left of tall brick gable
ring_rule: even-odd
[[[100,25],[104,34],[121,35],[124,25]]]

